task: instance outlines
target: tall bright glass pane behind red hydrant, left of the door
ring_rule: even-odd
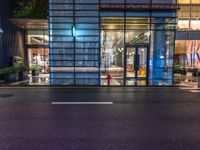
[[[123,85],[124,74],[124,32],[102,31],[101,43],[101,78],[102,84],[107,74],[112,77],[111,85]]]

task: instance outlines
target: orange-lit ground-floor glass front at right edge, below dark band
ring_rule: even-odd
[[[200,40],[177,40],[174,80],[178,85],[195,86],[200,75]]]

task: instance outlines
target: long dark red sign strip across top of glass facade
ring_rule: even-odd
[[[157,9],[157,10],[176,10],[179,9],[179,6],[177,4],[132,4],[132,3],[126,3],[126,4],[101,4],[101,9]]]

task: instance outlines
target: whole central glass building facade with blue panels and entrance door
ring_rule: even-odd
[[[175,0],[49,0],[51,85],[173,84]]]

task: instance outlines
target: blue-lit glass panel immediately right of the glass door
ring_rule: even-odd
[[[174,34],[159,30],[152,33],[150,85],[172,85]]]

